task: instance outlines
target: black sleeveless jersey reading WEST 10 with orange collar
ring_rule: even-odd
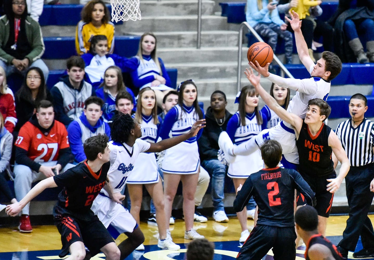
[[[332,149],[328,145],[330,132],[331,128],[322,123],[317,134],[312,136],[308,125],[303,122],[296,141],[300,174],[323,176],[334,171]]]

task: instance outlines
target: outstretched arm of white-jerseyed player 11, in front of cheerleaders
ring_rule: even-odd
[[[169,149],[170,147],[173,147],[183,141],[186,141],[187,139],[194,137],[197,135],[200,129],[205,127],[205,119],[200,119],[197,120],[191,127],[190,132],[183,134],[183,135],[178,135],[173,138],[168,138],[165,140],[162,140],[158,143],[150,143],[151,146],[149,149],[145,152],[147,153],[158,153],[163,150]]]

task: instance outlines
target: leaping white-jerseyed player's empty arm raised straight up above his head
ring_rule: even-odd
[[[309,71],[310,66],[314,65],[314,62],[309,56],[308,46],[306,45],[303,33],[301,33],[301,21],[299,19],[299,15],[294,10],[292,10],[292,13],[288,13],[291,16],[292,20],[287,16],[285,18],[291,24],[291,27],[295,32],[297,54],[299,55],[300,61]]]

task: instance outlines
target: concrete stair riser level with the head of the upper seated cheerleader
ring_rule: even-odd
[[[131,35],[142,35],[144,32],[131,32]],[[157,37],[158,48],[195,47],[197,43],[196,31],[153,32]],[[202,31],[201,46],[237,46],[237,31]]]

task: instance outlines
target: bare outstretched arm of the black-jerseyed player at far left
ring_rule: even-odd
[[[28,204],[33,198],[35,198],[37,195],[42,193],[43,190],[47,188],[53,188],[57,187],[57,184],[55,183],[55,180],[53,177],[46,178],[42,181],[40,181],[38,184],[36,184],[33,189],[31,189],[26,196],[21,199],[21,201],[17,203],[13,203],[6,206],[5,212],[6,214],[15,217],[16,215],[21,212],[21,210]]]

